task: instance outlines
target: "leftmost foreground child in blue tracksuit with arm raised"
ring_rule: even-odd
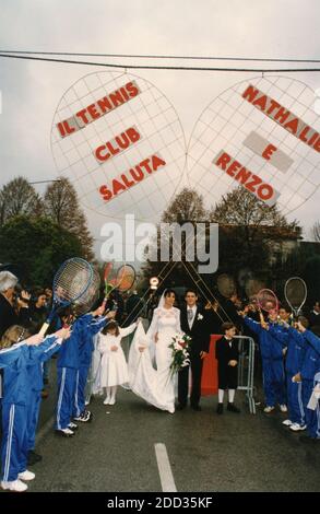
[[[33,480],[35,474],[26,469],[28,447],[28,411],[32,402],[32,374],[29,366],[49,351],[57,351],[68,330],[60,330],[45,339],[38,334],[28,337],[23,327],[9,328],[1,340],[0,367],[4,367],[2,401],[2,489],[23,492],[24,481]],[[20,342],[22,341],[22,342]]]

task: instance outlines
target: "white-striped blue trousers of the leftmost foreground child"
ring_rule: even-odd
[[[11,482],[26,470],[27,407],[2,404],[1,479]]]

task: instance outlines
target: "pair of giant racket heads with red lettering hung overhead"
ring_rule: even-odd
[[[83,77],[63,95],[51,129],[59,173],[102,214],[155,220],[182,184],[208,207],[246,188],[284,214],[319,187],[320,119],[303,82],[261,77],[235,84],[198,119],[186,148],[173,105],[128,73]]]

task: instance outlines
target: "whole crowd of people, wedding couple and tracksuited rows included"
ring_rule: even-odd
[[[46,397],[48,362],[56,353],[55,430],[63,437],[72,437],[79,422],[92,420],[85,388],[94,353],[98,354],[94,386],[95,390],[105,390],[105,405],[114,405],[118,385],[127,384],[158,409],[170,413],[182,410],[188,405],[190,367],[190,406],[200,411],[202,365],[209,354],[211,334],[223,336],[215,352],[217,413],[224,411],[225,390],[228,392],[227,410],[239,413],[235,405],[239,357],[238,342],[234,339],[238,331],[252,336],[259,348],[264,412],[270,414],[278,404],[281,411],[288,410],[286,427],[293,431],[307,430],[308,441],[320,439],[319,302],[308,316],[293,320],[284,305],[263,316],[254,302],[244,304],[236,295],[201,304],[198,292],[186,289],[180,308],[176,306],[178,297],[174,290],[166,290],[159,300],[155,297],[152,295],[143,302],[135,291],[126,299],[112,291],[107,303],[80,317],[75,317],[72,308],[64,308],[48,335],[42,337],[38,332],[50,311],[52,291],[49,288],[32,293],[23,291],[13,273],[0,272],[2,489],[25,491],[25,482],[35,478],[27,467],[42,458],[35,452],[35,437],[42,397]],[[146,334],[141,317],[151,322]],[[190,336],[191,350],[189,365],[178,372],[176,405],[169,344],[177,332]],[[129,355],[121,348],[123,337],[130,337]]]

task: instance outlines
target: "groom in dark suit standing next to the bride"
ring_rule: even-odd
[[[199,400],[201,396],[202,363],[209,353],[210,323],[205,311],[197,305],[198,295],[192,289],[186,292],[186,306],[181,308],[181,329],[191,337],[190,364],[192,373],[192,388],[190,404],[193,410],[201,410]],[[189,366],[182,367],[178,373],[178,407],[182,410],[188,400]]]

